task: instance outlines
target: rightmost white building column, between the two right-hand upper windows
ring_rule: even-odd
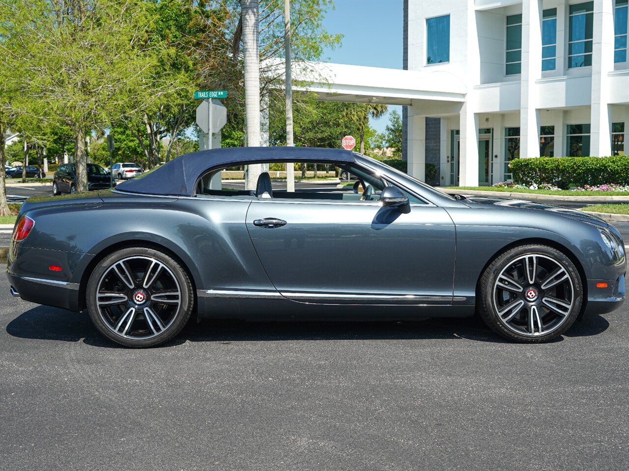
[[[614,70],[613,12],[613,2],[594,2],[589,154],[596,157],[611,155],[610,82],[608,73]]]

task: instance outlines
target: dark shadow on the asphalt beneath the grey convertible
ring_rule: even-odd
[[[563,336],[586,337],[604,332],[610,323],[600,316],[585,317]],[[96,347],[123,348],[97,332],[87,312],[75,313],[37,306],[9,322],[13,337],[61,342],[79,342]],[[190,342],[260,342],[287,340],[430,340],[467,339],[477,342],[509,343],[487,328],[479,317],[430,318],[423,321],[387,322],[245,322],[194,318],[177,337],[161,347]]]

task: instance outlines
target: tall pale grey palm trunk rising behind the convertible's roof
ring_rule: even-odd
[[[245,114],[247,146],[260,146],[260,26],[257,0],[240,0],[242,15],[242,45],[245,62]],[[249,165],[247,190],[255,190],[262,165]]]

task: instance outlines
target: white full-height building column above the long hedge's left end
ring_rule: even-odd
[[[540,156],[537,83],[542,77],[542,0],[522,2],[520,157]]]

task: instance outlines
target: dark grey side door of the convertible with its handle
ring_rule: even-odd
[[[260,199],[248,209],[247,229],[271,282],[292,300],[451,303],[454,223],[435,205],[410,208],[403,214],[377,201]],[[265,224],[269,219],[276,224]]]

